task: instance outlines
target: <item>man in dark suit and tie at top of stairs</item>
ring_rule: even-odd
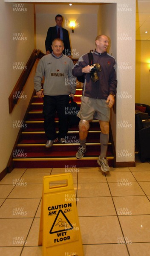
[[[52,41],[55,38],[61,38],[64,44],[63,54],[71,56],[69,34],[68,31],[66,29],[63,29],[62,27],[63,17],[58,14],[55,17],[55,21],[56,26],[50,27],[47,31],[47,36],[45,40],[46,54],[52,53]]]

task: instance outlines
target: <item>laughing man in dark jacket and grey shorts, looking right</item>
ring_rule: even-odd
[[[116,62],[115,58],[107,53],[109,39],[106,35],[98,35],[95,45],[96,49],[92,54],[94,65],[89,66],[88,54],[85,54],[79,58],[72,69],[73,76],[84,74],[81,109],[78,113],[81,119],[79,122],[80,147],[76,158],[81,159],[86,152],[89,121],[93,118],[98,119],[101,128],[101,154],[97,163],[103,172],[108,172],[110,167],[106,153],[109,141],[110,108],[113,107],[117,87]]]

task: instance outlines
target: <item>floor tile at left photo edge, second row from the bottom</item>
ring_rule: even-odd
[[[20,246],[26,243],[26,236],[32,218],[0,219],[0,246]]]

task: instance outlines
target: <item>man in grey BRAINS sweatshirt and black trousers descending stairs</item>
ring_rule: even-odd
[[[68,131],[68,120],[66,108],[70,97],[74,97],[76,89],[76,78],[72,76],[73,61],[63,55],[64,44],[60,38],[52,42],[51,54],[43,56],[38,63],[35,73],[35,91],[39,98],[44,95],[43,115],[44,129],[47,137],[46,148],[53,143],[65,143]],[[44,76],[43,91],[41,81]],[[59,133],[55,131],[55,113],[59,119]]]

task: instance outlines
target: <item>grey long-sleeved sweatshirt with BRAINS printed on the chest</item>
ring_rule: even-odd
[[[76,77],[72,75],[73,61],[66,55],[57,58],[48,54],[43,56],[35,73],[35,91],[41,90],[44,76],[43,94],[49,96],[75,94]]]

